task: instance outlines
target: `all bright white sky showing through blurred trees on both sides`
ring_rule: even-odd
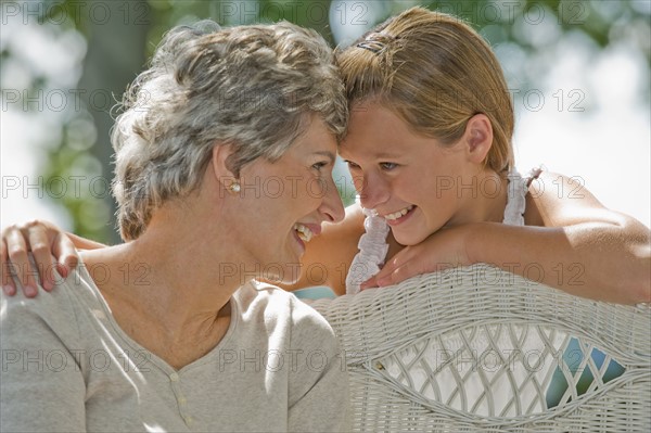
[[[58,119],[65,112],[46,107],[40,113],[25,113],[21,104],[11,103],[11,91],[22,91],[36,71],[46,71],[61,89],[74,87],[85,42],[74,33],[58,35],[26,26],[20,16],[2,20],[0,48],[14,47],[22,61],[2,65],[1,225],[39,217],[69,229],[66,212],[29,188],[38,183],[39,170],[47,164],[42,149],[59,139]],[[333,23],[333,31],[341,40],[363,28],[337,28]],[[570,39],[561,44],[548,60],[554,64],[551,73],[527,93],[526,102],[522,92],[515,95],[518,165],[526,171],[544,164],[549,170],[580,177],[605,206],[650,227],[651,112],[648,97],[640,97],[639,91],[650,79],[648,64],[626,46],[595,60],[582,50],[582,43]],[[522,59],[510,47],[497,51],[510,87],[518,89],[513,82]],[[585,113],[571,107],[583,107]]]

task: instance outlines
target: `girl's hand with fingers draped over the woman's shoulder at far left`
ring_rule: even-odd
[[[36,268],[29,262],[28,252],[34,256]],[[78,262],[79,256],[71,239],[51,222],[33,220],[2,230],[0,266],[2,291],[8,296],[16,293],[12,275],[21,281],[25,296],[34,297],[38,293],[37,276],[41,286],[51,291],[59,278],[54,269],[65,278]]]

